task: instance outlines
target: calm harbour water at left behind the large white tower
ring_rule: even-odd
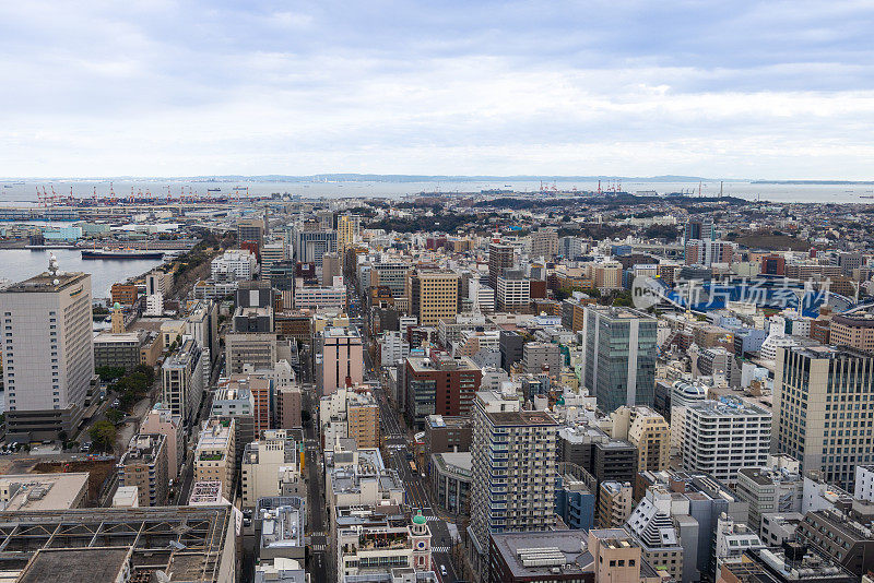
[[[20,282],[43,273],[51,253],[58,259],[60,270],[91,274],[91,295],[95,301],[108,298],[114,283],[143,274],[163,263],[160,259],[82,259],[82,253],[74,249],[0,249],[0,277]]]

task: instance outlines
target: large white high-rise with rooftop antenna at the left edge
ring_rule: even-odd
[[[7,438],[72,436],[94,376],[91,275],[49,271],[7,287],[3,382]]]

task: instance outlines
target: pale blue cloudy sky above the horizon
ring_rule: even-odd
[[[0,176],[874,178],[874,2],[0,2]]]

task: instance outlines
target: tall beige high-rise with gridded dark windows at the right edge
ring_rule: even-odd
[[[874,461],[874,356],[853,348],[777,350],[773,448],[801,460],[802,473],[852,491],[855,466]]]

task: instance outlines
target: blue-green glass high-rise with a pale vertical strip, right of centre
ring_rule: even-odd
[[[587,306],[582,326],[582,385],[598,407],[652,405],[658,323],[630,308]]]

